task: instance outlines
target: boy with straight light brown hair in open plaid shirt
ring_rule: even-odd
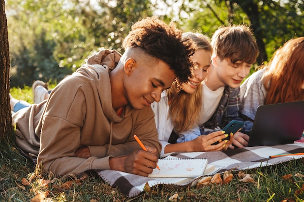
[[[242,120],[239,86],[248,76],[258,54],[253,33],[246,25],[220,27],[213,34],[211,45],[214,54],[203,81],[201,134],[220,130],[231,120]],[[251,124],[245,122],[243,129],[234,135],[233,145],[247,146],[246,128],[251,128]],[[234,148],[233,145],[230,148]]]

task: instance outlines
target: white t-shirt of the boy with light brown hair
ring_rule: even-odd
[[[203,84],[203,110],[202,117],[200,124],[204,124],[207,122],[211,116],[214,114],[215,110],[218,108],[220,104],[220,98],[222,97],[224,93],[225,87],[220,87],[219,89],[212,91],[208,88],[208,86],[205,84],[205,82],[202,82]]]

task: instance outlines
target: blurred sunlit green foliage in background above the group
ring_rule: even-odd
[[[304,36],[303,0],[7,0],[11,87],[59,82],[102,48],[117,49],[133,22],[158,15],[211,37],[221,25],[248,24],[268,61]],[[256,66],[255,65],[255,66]]]

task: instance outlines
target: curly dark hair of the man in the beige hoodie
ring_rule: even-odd
[[[135,22],[124,39],[124,49],[140,47],[148,55],[169,65],[177,76],[177,82],[186,83],[191,77],[195,44],[190,39],[182,39],[183,31],[171,21],[167,25],[157,16],[147,17]]]

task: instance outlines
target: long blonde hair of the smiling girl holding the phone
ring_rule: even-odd
[[[212,55],[213,49],[207,36],[197,32],[185,32],[183,38],[191,39],[197,46],[196,50],[204,49]],[[174,131],[181,133],[198,125],[203,99],[202,84],[198,85],[195,93],[189,94],[173,83],[167,93],[170,106],[168,116],[172,118]]]

